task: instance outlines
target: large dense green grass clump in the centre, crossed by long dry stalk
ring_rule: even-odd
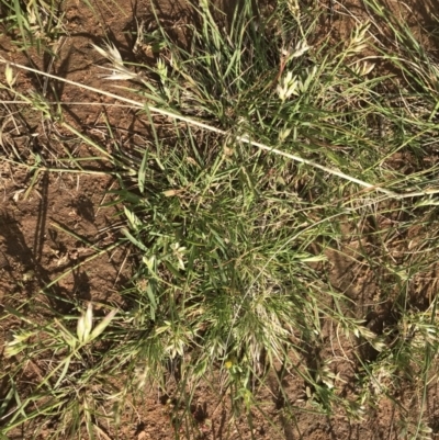
[[[134,362],[144,357],[144,376],[158,365],[161,372],[153,376],[160,377],[167,365],[160,360],[178,359],[179,374],[188,377],[183,384],[215,365],[236,365],[245,384],[250,377],[263,384],[273,365],[292,368],[292,359],[306,363],[307,351],[319,352],[328,325],[383,351],[386,338],[348,313],[348,297],[315,264],[330,267],[327,250],[344,252],[342,225],[363,224],[383,198],[362,196],[350,183],[327,181],[319,171],[240,140],[299,151],[376,187],[386,182],[401,194],[413,181],[392,173],[387,159],[401,149],[403,135],[426,142],[431,133],[420,133],[415,122],[402,133],[404,109],[379,93],[386,80],[392,88],[391,77],[371,78],[373,65],[358,59],[368,47],[368,24],[354,27],[339,47],[313,48],[307,40],[316,21],[305,18],[293,26],[284,10],[260,23],[245,4],[227,32],[206,3],[198,12],[201,25],[190,27],[187,47],[161,26],[153,34],[161,49],[151,68],[156,87],[147,83],[147,97],[183,113],[188,124],[176,123],[170,140],[155,135],[138,171],[138,192],[120,193],[121,202],[132,202],[125,204],[125,235],[143,253],[126,293],[140,316],[150,316],[145,339],[130,338],[140,356]],[[376,123],[383,114],[390,114],[385,140]],[[226,128],[227,136],[192,128],[195,117]],[[418,153],[415,142],[405,144],[407,154]],[[312,246],[317,237],[318,250]],[[337,402],[361,417],[361,404],[340,397],[324,362],[295,371],[312,384],[322,408]]]

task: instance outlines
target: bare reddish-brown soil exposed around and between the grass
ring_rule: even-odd
[[[176,26],[178,30],[180,22],[191,19],[190,10],[183,0],[160,1],[159,14],[170,26]],[[439,37],[435,38],[435,34],[431,35],[434,23],[430,20],[430,11],[439,10],[436,0],[408,0],[405,3],[387,0],[387,2],[390,9],[399,11],[402,18],[409,19],[410,25],[417,30],[420,38],[425,40],[432,52],[439,49]],[[323,24],[323,35],[330,31],[335,38],[342,38],[347,34],[352,21],[347,18],[346,10],[356,9],[358,11],[356,15],[368,18],[369,12],[361,1],[334,3],[334,11],[329,11],[329,4],[320,5],[328,8],[329,13],[334,13],[334,16],[329,20],[328,15],[328,21]],[[105,84],[101,78],[102,70],[98,67],[101,59],[91,48],[91,43],[100,44],[106,35],[120,49],[124,59],[135,61],[138,57],[138,54],[133,53],[137,23],[150,18],[150,7],[146,0],[136,2],[119,0],[114,3],[95,1],[93,4],[97,5],[97,15],[82,1],[66,1],[64,8],[66,36],[63,36],[56,47],[58,57],[54,60],[45,57],[38,67],[78,82],[111,90],[111,86]],[[232,7],[233,4],[223,4],[225,10],[230,10]],[[428,38],[426,30],[429,31]],[[29,64],[21,53],[13,49],[5,36],[1,38],[0,55],[18,63]],[[42,63],[41,57],[35,57],[35,63]],[[19,77],[20,87],[23,89],[40,88],[38,81],[33,75],[21,74]],[[83,134],[99,140],[101,145],[106,145],[109,150],[114,142],[122,148],[130,149],[133,144],[144,142],[148,135],[148,124],[139,120],[135,112],[120,106],[105,106],[105,103],[113,103],[111,99],[95,97],[91,92],[52,80],[47,82],[46,89],[49,100],[57,95],[61,101],[77,103],[66,106],[67,121]],[[102,105],[92,104],[98,102]],[[60,139],[68,136],[68,133],[55,133],[41,121],[32,121],[32,116],[25,121],[20,120],[19,126],[15,127],[8,120],[8,113],[4,110],[0,112],[2,112],[0,117],[4,122],[3,142],[9,148],[14,146],[30,165],[34,160],[31,151],[40,154],[46,161],[50,161],[54,155],[59,153],[64,156]],[[105,134],[106,122],[114,127],[113,139]],[[95,151],[91,151],[83,144],[79,143],[75,147],[77,156],[95,155]],[[11,148],[9,150],[12,151]],[[91,162],[89,168],[92,165]],[[25,168],[1,162],[1,156],[0,167],[0,305],[13,305],[23,297],[37,294],[66,270],[70,272],[56,284],[57,296],[92,300],[101,304],[120,302],[117,290],[127,282],[131,273],[128,249],[117,248],[114,251],[103,252],[99,258],[75,269],[79,262],[87,261],[93,253],[86,242],[103,249],[116,239],[114,215],[117,207],[103,206],[104,202],[110,201],[110,196],[103,199],[104,194],[114,188],[115,181],[103,174],[42,172],[31,191],[27,191],[31,182]],[[382,226],[385,227],[385,224]],[[421,232],[414,230],[410,234],[416,239],[416,235]],[[349,246],[356,245],[349,244]],[[349,253],[348,250],[346,252]],[[356,301],[358,308],[351,313],[364,317],[368,305],[379,295],[375,280],[378,275],[356,271],[352,261],[346,257],[334,255],[330,260],[334,286]],[[435,271],[436,268],[432,269],[430,277],[425,275],[425,279],[420,279],[415,289],[416,301],[419,304],[427,301],[426,298],[436,289]],[[389,312],[391,305],[383,304],[380,307],[369,316],[371,326],[382,327],[386,319],[392,319]],[[7,324],[2,325],[0,341],[5,340],[9,331]],[[354,392],[352,387],[358,372],[358,360],[351,343],[344,341],[336,329],[328,326],[326,349],[320,353],[312,353],[311,357],[315,354],[319,359],[325,359],[325,352],[336,359],[337,354],[340,354],[340,362],[335,368],[340,383],[344,382],[342,393],[349,396]],[[309,359],[309,362],[313,361],[315,362],[315,359]],[[386,397],[380,400],[374,411],[368,413],[364,419],[358,422],[349,421],[341,411],[325,417],[313,413],[304,381],[288,376],[283,381],[288,404],[297,408],[295,418],[289,419],[283,410],[286,405],[285,397],[280,395],[274,377],[271,383],[271,390],[266,390],[258,396],[263,403],[264,415],[257,410],[252,411],[249,416],[251,424],[248,416],[233,415],[227,398],[214,395],[207,386],[196,391],[193,399],[196,404],[193,407],[181,409],[176,408],[172,399],[168,399],[157,390],[146,390],[142,402],[134,397],[127,399],[117,430],[114,427],[102,426],[100,438],[115,439],[119,436],[121,439],[171,440],[176,436],[173,418],[187,410],[195,420],[191,437],[193,439],[397,439],[398,429],[395,424],[398,420],[398,410],[395,409],[394,402]],[[172,384],[169,390],[171,395]],[[427,394],[428,407],[425,410],[435,438],[439,438],[437,386],[431,386]],[[401,403],[401,410],[407,413],[412,410],[418,413],[420,397],[413,394],[409,385],[396,396]],[[11,438],[23,438],[20,436],[21,433],[16,432]]]

